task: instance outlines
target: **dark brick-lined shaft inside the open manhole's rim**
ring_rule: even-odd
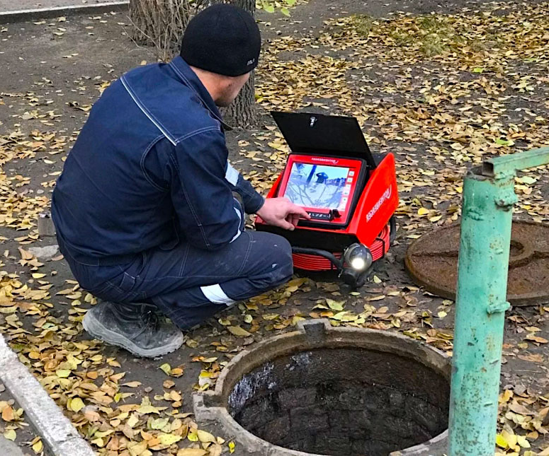
[[[237,382],[234,419],[274,445],[330,456],[385,456],[448,427],[450,385],[419,361],[356,348],[276,358]]]

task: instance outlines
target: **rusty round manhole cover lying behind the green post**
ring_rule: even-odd
[[[437,296],[455,299],[459,244],[459,225],[438,228],[414,241],[405,259],[414,282]],[[507,300],[515,306],[549,303],[548,225],[513,222]]]

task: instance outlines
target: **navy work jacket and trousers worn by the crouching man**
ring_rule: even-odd
[[[264,199],[227,157],[220,113],[181,57],[112,83],[52,197],[60,250],[82,288],[154,303],[188,329],[287,281],[290,245],[244,230],[244,211]]]

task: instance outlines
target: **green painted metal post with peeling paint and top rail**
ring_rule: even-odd
[[[450,456],[493,456],[505,321],[514,176],[549,163],[549,148],[487,160],[463,186],[450,402]]]

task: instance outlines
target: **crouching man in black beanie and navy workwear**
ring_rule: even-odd
[[[244,213],[289,230],[309,216],[232,168],[216,107],[236,98],[260,47],[248,13],[212,6],[180,56],[129,71],[95,103],[52,197],[60,250],[101,298],[84,317],[93,337],[161,356],[181,329],[292,275],[288,242],[244,230]]]

